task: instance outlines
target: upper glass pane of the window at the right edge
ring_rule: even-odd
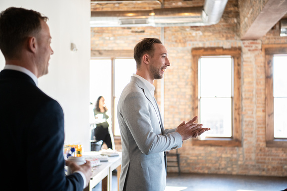
[[[274,56],[274,97],[287,97],[287,56]]]

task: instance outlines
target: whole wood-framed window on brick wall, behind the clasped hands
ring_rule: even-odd
[[[193,145],[241,146],[240,48],[192,48],[193,105],[211,130]]]

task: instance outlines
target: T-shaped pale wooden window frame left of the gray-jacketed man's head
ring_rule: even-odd
[[[115,135],[115,59],[134,59],[133,50],[92,50],[91,51],[91,60],[92,59],[110,59],[111,60],[111,121],[112,121],[112,132],[115,139],[120,139],[119,135]]]

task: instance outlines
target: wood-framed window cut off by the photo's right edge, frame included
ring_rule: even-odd
[[[287,147],[287,45],[266,45],[266,145]]]

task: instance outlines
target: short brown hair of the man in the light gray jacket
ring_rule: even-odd
[[[153,44],[162,44],[159,39],[156,38],[145,38],[142,39],[140,43],[138,43],[134,48],[134,58],[137,62],[137,68],[141,66],[142,56],[144,54],[149,54],[151,57],[154,54],[154,46]]]

